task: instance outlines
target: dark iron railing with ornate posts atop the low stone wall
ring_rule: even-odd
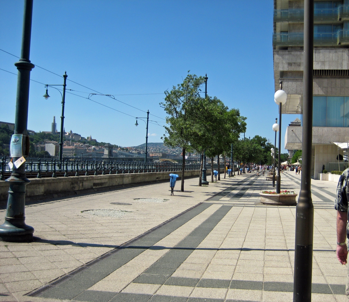
[[[11,170],[8,165],[10,159],[2,157],[0,168],[0,180],[10,177]],[[28,178],[42,177],[69,177],[88,176],[106,174],[126,174],[126,173],[147,173],[147,172],[170,172],[181,171],[182,163],[170,162],[139,162],[139,161],[116,161],[116,160],[89,160],[89,159],[63,159],[62,162],[56,159],[27,159],[25,164],[25,174]],[[218,169],[217,164],[213,164],[214,169]],[[224,164],[220,164],[224,168]],[[186,163],[185,170],[199,170],[200,163]],[[207,163],[207,169],[211,169],[211,163]]]

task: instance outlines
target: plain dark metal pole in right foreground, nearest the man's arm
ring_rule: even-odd
[[[311,199],[314,1],[304,1],[302,177],[296,207],[293,301],[311,301],[314,207]]]

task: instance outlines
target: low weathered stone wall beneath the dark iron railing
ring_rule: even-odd
[[[224,169],[220,169],[224,172]],[[182,171],[172,172],[149,172],[149,173],[130,173],[130,174],[112,174],[112,175],[91,175],[91,176],[72,176],[57,178],[31,178],[27,185],[26,197],[33,196],[53,196],[55,194],[83,191],[98,191],[113,189],[118,186],[147,183],[156,181],[165,181],[170,179],[169,174],[178,174],[181,177]],[[207,170],[210,175],[211,170]],[[184,172],[184,177],[198,176],[200,170],[189,170]],[[178,187],[178,180],[176,186]],[[9,184],[6,181],[0,181],[0,200],[6,200],[8,197]]]

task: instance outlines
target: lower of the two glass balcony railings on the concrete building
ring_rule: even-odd
[[[303,32],[273,35],[274,46],[303,46],[303,40]],[[335,46],[342,43],[349,43],[349,30],[314,34],[314,46]]]

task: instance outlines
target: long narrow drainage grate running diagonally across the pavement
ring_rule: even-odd
[[[163,223],[161,223],[161,224],[159,224],[158,226],[156,226],[156,227],[150,229],[149,231],[146,231],[145,233],[143,233],[143,234],[141,234],[141,235],[139,235],[139,236],[137,236],[137,237],[135,237],[135,238],[133,238],[133,239],[131,239],[131,240],[129,240],[129,241],[123,243],[123,244],[121,244],[120,246],[118,246],[117,248],[111,250],[110,252],[106,252],[104,255],[102,255],[102,256],[100,256],[100,257],[98,257],[98,258],[96,258],[96,259],[94,259],[94,260],[92,260],[92,261],[90,261],[90,262],[88,262],[88,263],[86,263],[86,264],[84,264],[84,265],[82,265],[82,266],[76,268],[74,271],[72,271],[72,272],[70,272],[70,273],[68,273],[68,274],[66,274],[66,275],[64,275],[64,276],[62,276],[62,277],[59,277],[59,278],[56,279],[56,280],[51,281],[49,284],[46,284],[46,285],[44,285],[43,287],[40,287],[40,288],[38,288],[38,289],[36,289],[36,290],[34,290],[34,291],[32,291],[32,292],[29,292],[29,293],[26,294],[26,295],[27,295],[27,296],[30,296],[30,297],[36,297],[36,296],[42,294],[42,293],[45,292],[46,290],[48,290],[48,289],[50,289],[50,288],[53,288],[53,287],[57,286],[59,283],[61,283],[61,282],[65,281],[65,280],[67,280],[67,279],[73,277],[75,274],[80,273],[80,272],[83,271],[83,270],[86,270],[87,268],[89,268],[90,266],[96,264],[97,262],[99,262],[99,261],[101,261],[101,260],[103,260],[103,259],[105,259],[105,258],[107,258],[107,257],[109,257],[109,256],[111,256],[111,255],[113,255],[114,253],[116,253],[116,252],[118,252],[118,251],[120,251],[120,250],[126,248],[128,245],[130,245],[130,244],[134,243],[135,241],[137,241],[137,240],[143,238],[144,236],[147,236],[148,234],[152,233],[153,231],[157,230],[158,228],[161,228],[161,227],[164,226],[165,224],[168,224],[169,222],[175,220],[175,219],[178,218],[179,216],[181,216],[181,215],[183,215],[183,214],[185,214],[185,213],[191,211],[192,209],[196,208],[197,206],[199,206],[199,205],[201,205],[201,204],[203,204],[203,202],[199,202],[197,205],[195,205],[195,206],[193,206],[193,207],[191,207],[191,208],[188,208],[188,209],[185,210],[184,212],[179,213],[178,215],[176,215],[176,216],[170,218],[169,220],[164,221]]]

